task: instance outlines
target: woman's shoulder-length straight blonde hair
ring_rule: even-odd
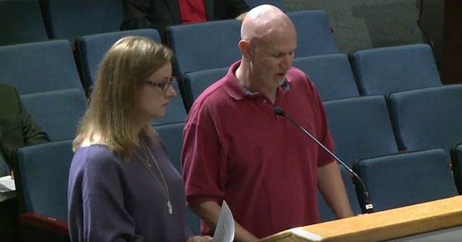
[[[135,103],[145,80],[172,58],[168,47],[145,37],[127,36],[114,43],[99,66],[72,149],[76,151],[85,141],[103,144],[128,161],[139,137],[153,140],[149,124],[139,131]]]

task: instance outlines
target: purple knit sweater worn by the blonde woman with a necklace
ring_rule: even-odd
[[[151,159],[159,179],[136,155],[124,162],[107,146],[79,148],[68,184],[71,241],[185,241],[183,179],[161,144],[150,148],[167,181],[173,214],[168,214],[163,182]],[[145,157],[142,148],[135,151]]]

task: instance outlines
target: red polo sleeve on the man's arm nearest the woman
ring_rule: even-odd
[[[212,115],[206,107],[191,111],[184,129],[181,156],[189,206],[220,203],[225,195],[225,155]]]

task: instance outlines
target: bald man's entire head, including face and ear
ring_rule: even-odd
[[[241,84],[274,100],[277,87],[292,67],[297,32],[289,17],[273,5],[259,5],[242,21],[238,44],[242,61],[236,70]]]

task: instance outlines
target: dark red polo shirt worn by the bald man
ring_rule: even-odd
[[[262,238],[319,222],[317,169],[334,159],[283,117],[261,94],[248,94],[234,72],[214,83],[192,105],[184,129],[183,179],[190,206],[223,200],[234,219]],[[289,88],[276,105],[334,150],[314,85],[292,68]],[[201,233],[213,234],[205,223]]]

